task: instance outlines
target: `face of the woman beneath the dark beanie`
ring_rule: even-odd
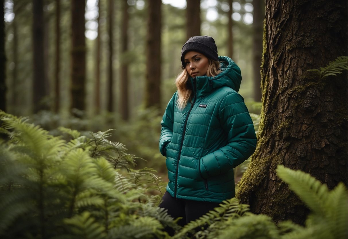
[[[199,52],[187,52],[184,57],[185,68],[191,77],[205,76],[209,67],[209,59]]]

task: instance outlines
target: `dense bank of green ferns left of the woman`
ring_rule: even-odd
[[[110,130],[88,138],[60,128],[67,142],[26,118],[0,120],[9,136],[0,145],[1,238],[166,238],[164,226],[180,229],[152,193],[164,192],[161,178],[131,169],[134,157]]]

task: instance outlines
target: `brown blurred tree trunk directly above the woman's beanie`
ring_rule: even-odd
[[[200,0],[186,1],[186,38],[200,36]]]

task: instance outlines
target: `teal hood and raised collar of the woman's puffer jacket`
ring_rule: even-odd
[[[204,96],[207,93],[213,91],[216,88],[221,88],[223,86],[228,86],[239,91],[240,82],[242,81],[242,75],[240,74],[240,68],[238,65],[232,61],[228,56],[219,56],[220,61],[220,72],[219,75],[212,76],[197,76],[196,79],[196,89],[197,97]],[[193,78],[189,77],[188,83],[190,83],[190,88],[195,88],[193,86]]]

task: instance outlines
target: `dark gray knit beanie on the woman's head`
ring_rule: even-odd
[[[181,49],[181,64],[185,68],[185,54],[189,51],[200,52],[207,58],[219,61],[219,56],[217,55],[217,47],[215,41],[209,36],[195,36],[190,37],[187,42],[182,46]]]

